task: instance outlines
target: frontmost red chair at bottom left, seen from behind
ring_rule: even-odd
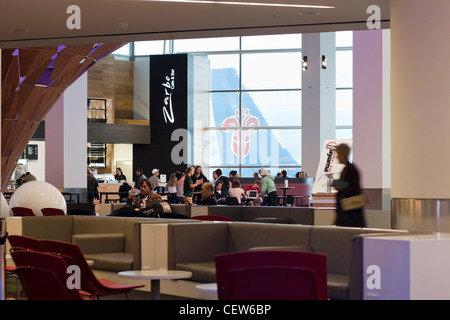
[[[15,251],[11,256],[30,300],[85,300],[67,286],[67,264],[62,257],[37,251]]]

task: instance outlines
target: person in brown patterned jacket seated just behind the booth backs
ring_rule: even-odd
[[[127,199],[127,204],[122,208],[111,212],[110,216],[118,217],[148,217],[153,212],[163,213],[161,206],[161,196],[150,190],[150,181],[144,179],[141,182],[140,192],[130,190],[130,196]]]

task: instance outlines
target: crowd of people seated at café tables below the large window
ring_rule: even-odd
[[[161,195],[156,192],[159,186],[157,178],[159,170],[154,169],[150,179],[143,174],[141,169],[137,169],[136,173],[135,188],[131,188],[125,181],[121,188],[126,185],[129,190],[119,190],[125,195],[128,194],[126,205],[111,215],[148,217],[163,213],[163,200]],[[122,174],[121,170],[117,174]],[[223,175],[221,169],[217,169],[213,172],[214,180],[211,182],[203,174],[201,166],[190,166],[185,173],[177,171],[171,174],[165,193],[169,203],[184,203],[187,206],[193,205],[194,202],[197,205],[276,206],[278,193],[274,183],[275,178],[264,168],[260,169],[257,174],[258,179],[244,190],[236,171],[231,171],[227,177]]]

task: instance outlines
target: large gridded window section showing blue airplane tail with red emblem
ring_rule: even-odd
[[[300,171],[301,35],[242,37],[238,49],[208,53],[210,172]]]

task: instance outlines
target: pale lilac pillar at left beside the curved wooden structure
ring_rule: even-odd
[[[87,74],[78,78],[45,117],[45,180],[68,192],[87,190]]]

